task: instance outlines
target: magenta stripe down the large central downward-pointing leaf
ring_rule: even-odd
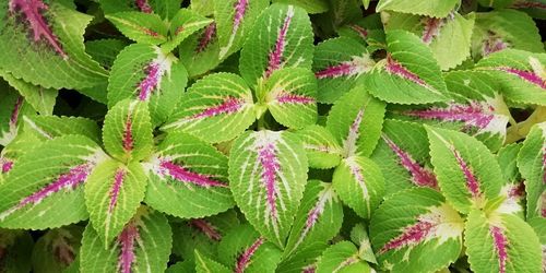
[[[262,181],[266,192],[268,206],[271,216],[276,219],[276,173],[281,170],[281,164],[275,154],[275,145],[266,143],[259,147],[258,159],[263,167]]]

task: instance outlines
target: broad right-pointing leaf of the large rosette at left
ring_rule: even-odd
[[[145,201],[155,210],[194,218],[234,206],[226,156],[195,136],[168,133],[144,167],[150,177]]]

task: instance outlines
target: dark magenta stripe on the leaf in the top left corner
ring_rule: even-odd
[[[28,26],[34,33],[34,41],[38,41],[44,37],[47,43],[59,54],[63,59],[68,59],[67,52],[62,50],[58,37],[47,24],[41,12],[47,11],[49,7],[43,0],[10,0],[10,14],[15,12],[22,13]]]

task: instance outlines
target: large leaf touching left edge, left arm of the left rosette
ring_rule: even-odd
[[[0,226],[45,229],[87,218],[82,185],[105,158],[82,135],[58,136],[34,147],[0,186]]]

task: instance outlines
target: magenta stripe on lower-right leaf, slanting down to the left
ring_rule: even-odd
[[[381,250],[380,253],[384,253],[390,250],[397,250],[403,247],[415,246],[422,242],[429,234],[431,234],[435,225],[428,221],[418,221],[412,226],[408,226],[402,230],[402,234],[396,238],[388,241]]]

